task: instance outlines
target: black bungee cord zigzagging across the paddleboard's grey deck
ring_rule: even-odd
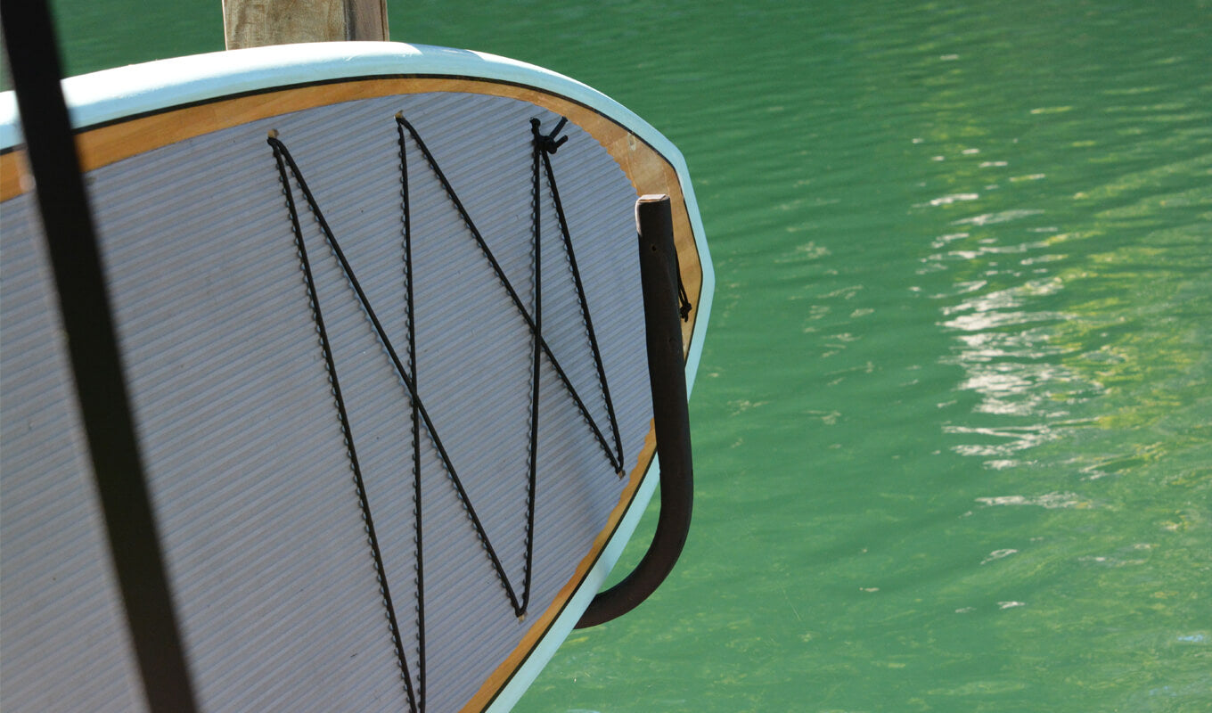
[[[551,169],[550,154],[554,154],[559,147],[568,141],[567,136],[559,136],[566,125],[567,119],[561,118],[555,129],[550,133],[543,133],[539,131],[541,122],[537,119],[531,121],[532,132],[532,176],[531,176],[531,209],[532,209],[532,303],[533,314],[527,312],[525,306],[521,303],[521,298],[518,296],[516,290],[505,278],[501,264],[497,262],[496,257],[492,255],[486,241],[484,240],[480,232],[476,229],[467,210],[463,207],[462,201],[454,193],[446,176],[441,172],[438,166],[436,160],[429,152],[428,147],[421,139],[419,133],[416,129],[404,119],[402,115],[396,115],[396,129],[399,135],[399,156],[400,156],[400,195],[401,195],[401,223],[402,223],[402,261],[404,261],[404,283],[406,292],[406,329],[407,329],[407,352],[405,353],[405,360],[401,361],[394,344],[388,338],[382,323],[376,315],[370,300],[364,292],[361,285],[358,281],[358,276],[354,273],[353,267],[349,264],[341,249],[341,245],[333,234],[331,227],[328,226],[315,196],[311,194],[307,181],[303,177],[303,172],[296,164],[293,156],[286,146],[278,138],[276,132],[271,132],[268,139],[269,146],[273,149],[274,159],[278,166],[279,178],[282,183],[284,193],[286,195],[286,207],[290,212],[291,229],[295,234],[295,243],[297,255],[299,257],[301,270],[304,275],[304,284],[307,286],[309,308],[311,310],[313,320],[316,325],[316,331],[319,333],[320,348],[325,358],[325,369],[327,372],[327,378],[330,382],[330,390],[333,395],[333,403],[337,407],[338,421],[341,423],[342,438],[347,447],[347,456],[350,462],[350,469],[354,473],[354,484],[358,492],[359,507],[362,510],[362,519],[365,523],[365,530],[367,535],[367,541],[371,546],[371,554],[375,560],[376,576],[379,584],[379,592],[382,594],[383,604],[387,610],[387,617],[390,626],[390,633],[393,644],[396,651],[398,666],[401,672],[401,678],[405,681],[405,692],[407,694],[408,706],[413,713],[421,713],[424,711],[425,703],[425,615],[424,615],[424,547],[423,547],[423,526],[422,526],[422,491],[421,491],[421,426],[424,424],[425,434],[429,441],[434,445],[438,451],[439,458],[446,470],[451,484],[453,485],[456,494],[475,530],[476,537],[479,538],[485,553],[487,554],[493,569],[497,572],[497,577],[505,592],[507,598],[514,610],[515,616],[519,618],[525,618],[527,609],[530,606],[531,595],[531,581],[532,581],[532,567],[533,567],[533,551],[534,551],[534,492],[537,481],[537,462],[538,462],[538,410],[539,410],[539,381],[541,381],[541,361],[542,356],[545,355],[548,363],[551,365],[555,373],[560,377],[564,383],[565,389],[570,397],[576,403],[578,410],[582,413],[584,421],[589,424],[594,435],[596,437],[599,444],[606,455],[607,461],[611,467],[623,474],[623,447],[619,435],[618,423],[614,416],[613,404],[610,397],[610,388],[606,382],[606,373],[602,366],[601,353],[598,347],[598,341],[594,335],[593,323],[589,316],[588,302],[585,300],[584,286],[581,280],[579,269],[577,268],[576,255],[572,249],[572,240],[568,233],[567,219],[564,213],[564,206],[560,201],[559,189],[555,183],[555,175]],[[407,135],[412,137],[417,148],[421,150],[427,164],[433,170],[434,175],[438,177],[442,188],[445,189],[448,199],[452,201],[459,216],[463,218],[469,232],[479,245],[485,258],[492,266],[498,280],[504,286],[505,291],[509,293],[515,307],[520,312],[524,321],[531,332],[531,404],[530,404],[530,430],[528,430],[528,444],[527,444],[527,491],[526,491],[526,531],[525,531],[525,569],[524,569],[524,583],[521,587],[521,597],[514,591],[509,576],[504,571],[504,566],[501,563],[501,558],[497,555],[488,540],[487,532],[471,504],[471,501],[463,487],[462,480],[454,469],[454,466],[447,454],[445,446],[442,445],[441,438],[439,437],[438,429],[429,417],[425,410],[424,403],[422,401],[418,389],[417,389],[417,344],[416,344],[416,303],[415,303],[415,275],[413,275],[413,261],[412,261],[412,216],[410,207],[410,182],[408,182],[408,166],[407,166]],[[565,246],[565,256],[568,261],[570,273],[572,274],[572,280],[577,290],[577,298],[581,307],[582,319],[585,327],[587,341],[589,342],[590,349],[594,356],[594,364],[598,371],[599,386],[601,387],[602,400],[606,405],[607,416],[610,418],[610,427],[612,430],[614,440],[613,452],[607,446],[606,439],[601,430],[598,428],[593,417],[589,415],[584,401],[581,395],[573,388],[571,381],[565,373],[564,369],[560,366],[559,361],[555,359],[551,348],[548,346],[547,341],[543,338],[542,333],[542,178],[541,173],[547,177],[547,186],[551,195],[551,200],[555,207],[555,213],[560,224],[560,232]],[[311,272],[310,259],[308,256],[307,246],[303,240],[303,232],[299,226],[298,207],[295,201],[293,189],[291,187],[291,177],[293,177],[295,184],[298,190],[303,194],[307,203],[308,210],[311,212],[314,219],[316,221],[320,232],[322,233],[325,241],[328,244],[332,255],[337,258],[342,273],[349,287],[353,289],[358,296],[359,303],[362,308],[362,313],[370,321],[375,330],[378,340],[381,341],[384,350],[387,352],[396,375],[404,383],[405,389],[408,393],[408,399],[412,411],[412,470],[413,470],[413,521],[415,521],[415,536],[413,542],[416,544],[416,569],[415,569],[415,584],[416,584],[416,622],[417,622],[417,677],[416,684],[413,683],[413,677],[410,674],[410,667],[404,652],[402,634],[399,626],[399,621],[395,614],[395,606],[391,600],[390,589],[388,587],[387,575],[383,567],[383,558],[378,546],[378,538],[375,534],[373,518],[371,515],[370,502],[366,496],[366,487],[362,480],[361,467],[358,462],[358,454],[354,445],[354,438],[350,432],[349,417],[345,410],[344,399],[341,393],[339,380],[337,375],[337,366],[332,354],[332,346],[328,340],[327,331],[324,324],[324,315],[320,308],[320,300],[316,293],[315,280]]]

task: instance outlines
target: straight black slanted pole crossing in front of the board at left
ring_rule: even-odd
[[[42,0],[0,0],[8,70],[67,331],[93,475],[148,706],[196,711],[114,336],[59,58]]]

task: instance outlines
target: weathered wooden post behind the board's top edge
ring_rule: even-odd
[[[387,0],[223,0],[223,36],[228,50],[387,41]]]

